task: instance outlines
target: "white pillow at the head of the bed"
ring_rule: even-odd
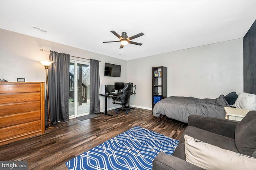
[[[240,109],[256,110],[256,95],[241,93],[235,102],[235,107]]]

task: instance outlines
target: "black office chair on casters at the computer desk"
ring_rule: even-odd
[[[121,110],[126,111],[126,114],[128,113],[127,110],[131,111],[127,106],[129,106],[130,96],[132,93],[132,84],[126,84],[122,91],[123,94],[120,97],[112,97],[112,103],[122,106],[120,109],[115,109],[116,114]]]

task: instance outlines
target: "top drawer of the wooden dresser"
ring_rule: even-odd
[[[40,83],[1,83],[0,93],[26,93],[40,91]]]

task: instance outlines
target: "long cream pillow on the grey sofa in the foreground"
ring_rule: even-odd
[[[255,170],[256,158],[196,140],[185,138],[186,161],[207,170]]]

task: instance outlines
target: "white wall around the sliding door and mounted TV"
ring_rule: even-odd
[[[45,82],[45,69],[38,61],[49,59],[50,52],[40,51],[42,48],[60,53],[68,53],[72,56],[100,60],[101,84],[126,82],[125,60],[26,36],[4,29],[0,29],[0,37],[0,79],[16,82],[17,78],[27,78],[28,82]],[[82,60],[84,59],[81,59],[81,61]],[[104,77],[105,62],[121,65],[121,77]],[[104,111],[104,97],[100,97],[100,106],[101,110]],[[116,107],[116,105],[112,104],[111,100],[108,100],[108,108],[111,107]]]

